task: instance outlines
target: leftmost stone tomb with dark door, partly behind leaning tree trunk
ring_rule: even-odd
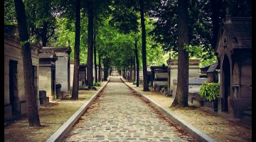
[[[27,113],[21,45],[15,33],[18,33],[16,26],[4,26],[4,121]],[[38,107],[38,50],[40,49],[40,45],[31,44],[32,77]]]

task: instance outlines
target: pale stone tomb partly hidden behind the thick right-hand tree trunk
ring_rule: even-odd
[[[168,63],[168,92],[167,96],[175,97],[178,79],[178,60],[171,60],[169,55]],[[199,60],[188,61],[188,80],[199,78]]]

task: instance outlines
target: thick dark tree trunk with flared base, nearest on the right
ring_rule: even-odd
[[[178,84],[171,107],[188,107],[188,53],[184,44],[188,44],[188,1],[178,0]]]

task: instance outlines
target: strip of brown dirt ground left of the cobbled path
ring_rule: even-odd
[[[102,82],[101,87],[106,82]],[[97,90],[101,87],[96,87]],[[4,141],[46,141],[82,104],[97,91],[80,90],[79,99],[73,101],[70,95],[58,102],[50,102],[39,109],[41,127],[28,126],[28,118],[22,118],[4,126]]]

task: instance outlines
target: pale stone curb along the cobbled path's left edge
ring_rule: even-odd
[[[107,81],[107,83],[108,82],[110,82],[110,79]],[[85,102],[85,104],[82,104],[82,107],[80,107],[78,111],[75,111],[75,113],[72,116],[70,116],[70,118],[67,121],[65,121],[64,124],[60,126],[60,128],[57,131],[55,131],[46,142],[61,141],[65,134],[68,133],[70,129],[72,129],[75,122],[78,121],[80,116],[82,116],[85,110],[90,106],[90,104],[92,104],[92,102],[96,99],[100,92],[102,92],[102,90],[106,87],[107,83],[102,88],[100,88],[95,94],[93,94],[92,97],[90,97],[90,99],[88,99],[87,102]]]

